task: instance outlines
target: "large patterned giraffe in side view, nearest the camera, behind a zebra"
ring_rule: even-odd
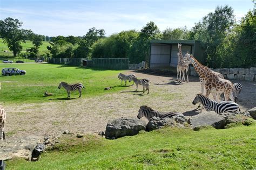
[[[208,97],[210,93],[224,93],[225,101],[230,99],[233,102],[236,102],[237,96],[233,96],[234,86],[230,81],[221,79],[218,75],[210,72],[205,67],[202,67],[200,62],[198,62],[193,57],[193,55],[190,55],[190,60],[192,62],[192,65],[194,66],[194,69],[196,69],[196,72],[199,74],[200,79],[202,79],[204,82],[206,97]],[[202,110],[203,107],[201,108],[201,111]]]

